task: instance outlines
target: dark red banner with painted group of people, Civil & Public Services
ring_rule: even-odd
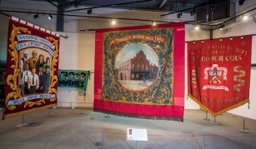
[[[57,105],[59,35],[10,17],[3,119]]]

